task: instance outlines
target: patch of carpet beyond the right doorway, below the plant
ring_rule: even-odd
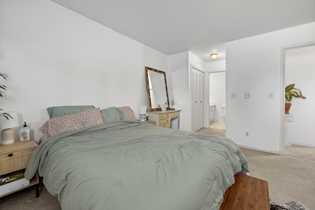
[[[284,154],[300,157],[309,160],[315,160],[315,148],[303,147],[298,145],[284,147]]]

